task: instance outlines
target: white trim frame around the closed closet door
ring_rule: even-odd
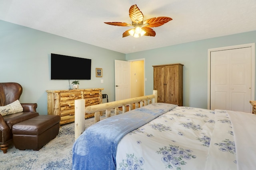
[[[241,45],[233,45],[228,47],[218,47],[213,49],[208,49],[208,87],[207,87],[207,108],[210,109],[210,91],[211,91],[211,52],[213,51],[222,51],[222,50],[230,50],[230,49],[238,49],[251,47],[251,67],[252,67],[252,78],[251,78],[251,100],[255,99],[255,43],[241,44]],[[248,101],[249,102],[249,101]]]

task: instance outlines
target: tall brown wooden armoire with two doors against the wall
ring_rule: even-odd
[[[180,63],[153,66],[157,102],[183,106],[183,66]]]

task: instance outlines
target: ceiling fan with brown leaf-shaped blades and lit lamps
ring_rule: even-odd
[[[141,37],[156,35],[156,32],[150,27],[159,27],[172,20],[170,17],[155,17],[144,21],[144,16],[136,4],[132,5],[129,9],[129,16],[132,20],[132,24],[125,22],[104,22],[109,25],[116,26],[132,26],[134,28],[128,29],[123,33],[123,37],[132,35],[133,37]]]

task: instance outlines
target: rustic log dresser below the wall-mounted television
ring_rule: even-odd
[[[75,90],[46,90],[48,115],[60,115],[60,124],[75,121],[75,100],[84,99],[85,107],[102,104],[103,88]],[[84,117],[92,117],[94,113],[85,113]]]

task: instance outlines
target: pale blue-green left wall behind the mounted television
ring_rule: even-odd
[[[20,83],[20,102],[36,102],[39,114],[47,114],[46,90],[69,88],[68,80],[50,80],[51,53],[92,59],[92,79],[80,80],[79,88],[104,88],[114,101],[114,60],[125,60],[125,54],[0,20],[0,82]],[[63,69],[75,74],[78,66]],[[95,68],[102,68],[102,78]]]

